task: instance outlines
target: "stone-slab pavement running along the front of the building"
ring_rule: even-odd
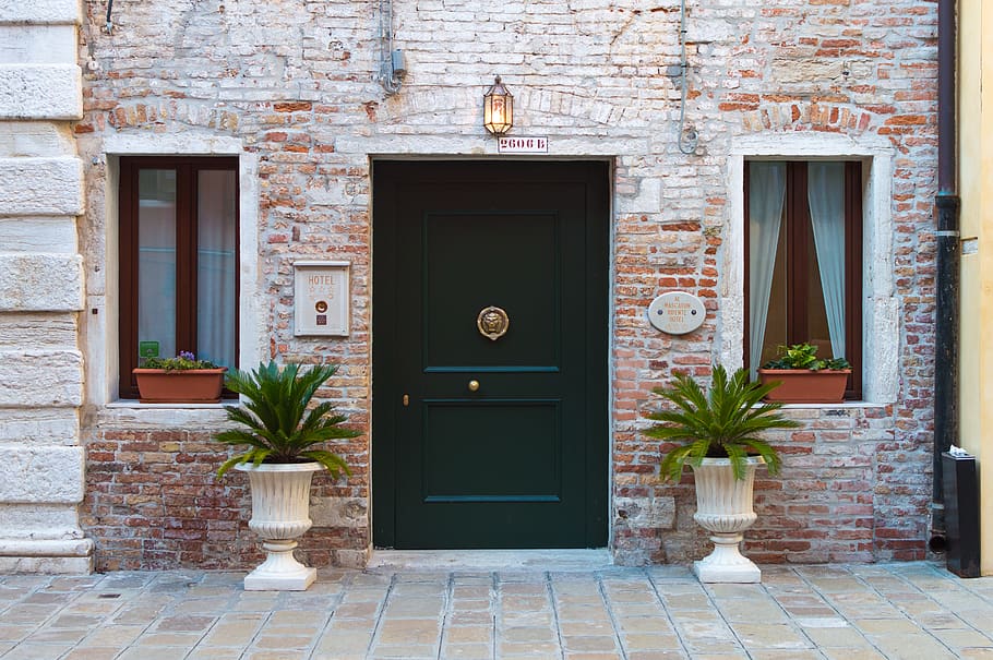
[[[710,586],[683,566],[330,569],[282,593],[243,575],[0,575],[0,658],[993,658],[993,578],[930,563]]]

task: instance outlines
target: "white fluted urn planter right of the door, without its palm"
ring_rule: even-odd
[[[761,456],[746,459],[744,479],[735,479],[730,458],[704,458],[693,467],[696,513],[693,519],[710,532],[714,552],[693,563],[702,583],[761,583],[762,571],[741,554],[742,532],[758,517],[752,508],[755,468]]]

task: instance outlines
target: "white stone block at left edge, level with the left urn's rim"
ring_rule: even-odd
[[[83,447],[0,445],[0,502],[83,501]]]

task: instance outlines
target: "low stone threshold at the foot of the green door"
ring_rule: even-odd
[[[595,550],[374,550],[369,571],[597,571],[612,565]]]

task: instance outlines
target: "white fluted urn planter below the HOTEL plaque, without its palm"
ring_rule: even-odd
[[[295,539],[310,529],[310,483],[319,463],[235,466],[247,472],[252,488],[249,528],[262,538],[265,561],[244,578],[246,591],[303,591],[316,578],[316,569],[294,556]]]

